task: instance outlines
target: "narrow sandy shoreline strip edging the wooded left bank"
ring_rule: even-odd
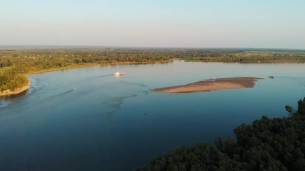
[[[19,94],[27,89],[29,89],[31,86],[31,81],[28,78],[30,75],[36,74],[36,73],[44,73],[44,72],[51,72],[51,71],[56,71],[56,70],[63,70],[63,69],[74,69],[74,68],[82,68],[82,67],[91,67],[91,66],[105,66],[105,65],[117,65],[117,64],[145,64],[145,63],[167,63],[176,60],[176,58],[168,60],[168,61],[148,61],[148,62],[117,62],[117,63],[107,63],[107,64],[97,64],[97,63],[90,63],[88,65],[75,65],[75,66],[66,66],[62,68],[51,68],[51,69],[42,69],[38,71],[32,71],[29,73],[24,73],[28,79],[28,84],[18,88],[17,90],[11,91],[10,89],[5,90],[4,92],[0,93],[0,96],[7,96],[7,95],[12,95],[12,94]]]

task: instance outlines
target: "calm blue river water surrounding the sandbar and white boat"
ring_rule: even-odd
[[[262,115],[286,116],[284,106],[305,96],[304,73],[304,63],[174,61],[34,74],[28,92],[0,97],[0,170],[130,170],[179,145],[234,136]],[[244,89],[149,90],[236,76],[266,79]]]

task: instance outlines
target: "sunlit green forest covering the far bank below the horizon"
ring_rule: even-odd
[[[305,50],[226,48],[0,48],[0,92],[28,83],[25,75],[45,69],[115,63],[167,62],[305,62]]]

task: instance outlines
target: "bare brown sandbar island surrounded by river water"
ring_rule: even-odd
[[[198,91],[212,91],[217,89],[232,89],[232,88],[251,88],[254,87],[257,77],[232,77],[232,78],[213,78],[203,81],[188,83],[186,85],[169,86],[163,88],[151,89],[157,92],[169,93],[187,93]]]

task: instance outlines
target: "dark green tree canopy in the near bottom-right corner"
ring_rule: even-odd
[[[288,117],[262,116],[234,129],[236,138],[178,147],[134,170],[304,170],[305,97]]]

